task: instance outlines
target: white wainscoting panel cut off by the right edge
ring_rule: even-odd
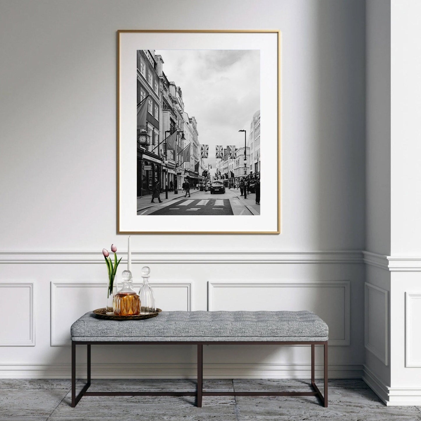
[[[405,293],[405,367],[421,367],[421,292]]]

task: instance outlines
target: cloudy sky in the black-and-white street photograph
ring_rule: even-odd
[[[163,71],[183,93],[184,111],[196,117],[205,164],[215,168],[215,145],[244,145],[244,133],[260,109],[258,50],[155,50]]]

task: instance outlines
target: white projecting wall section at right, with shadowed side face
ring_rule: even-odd
[[[370,0],[366,18],[364,378],[387,405],[421,405],[421,3]]]

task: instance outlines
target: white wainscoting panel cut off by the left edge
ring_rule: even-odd
[[[35,346],[34,283],[0,282],[0,346]]]

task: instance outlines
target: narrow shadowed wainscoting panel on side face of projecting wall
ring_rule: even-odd
[[[389,291],[365,282],[364,345],[389,365]]]

